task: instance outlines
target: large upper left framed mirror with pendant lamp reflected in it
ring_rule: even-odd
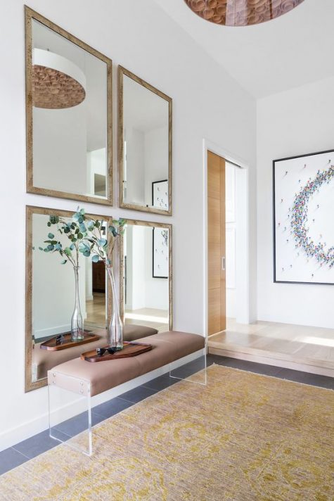
[[[27,192],[113,203],[112,61],[25,8]]]

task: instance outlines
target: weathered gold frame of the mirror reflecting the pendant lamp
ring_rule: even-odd
[[[34,186],[34,160],[33,160],[33,125],[32,125],[32,20],[50,28],[73,44],[81,47],[101,59],[107,65],[107,172],[105,176],[107,198],[96,198],[89,195],[72,194],[66,191],[58,191],[49,188]],[[63,30],[43,15],[25,6],[25,120],[26,120],[26,144],[27,144],[27,193],[57,198],[69,198],[82,202],[98,203],[99,205],[113,205],[113,61],[96,51],[91,46],[82,42],[74,35]]]

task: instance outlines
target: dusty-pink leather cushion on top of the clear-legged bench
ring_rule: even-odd
[[[178,331],[148,336],[143,342],[153,345],[153,349],[136,357],[97,363],[76,358],[57,365],[48,373],[49,383],[56,381],[62,388],[73,391],[71,378],[89,381],[91,396],[94,396],[203,349],[205,345],[203,336]],[[56,378],[53,374],[56,374]]]

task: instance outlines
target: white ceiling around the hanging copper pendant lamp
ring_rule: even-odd
[[[260,25],[225,27],[195,15],[184,0],[155,0],[256,98],[334,75],[334,0],[304,0]]]

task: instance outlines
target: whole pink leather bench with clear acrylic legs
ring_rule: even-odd
[[[134,341],[141,341],[137,339]],[[205,355],[206,367],[206,344],[205,338],[198,334],[189,334],[187,332],[168,331],[153,336],[143,338],[145,343],[153,346],[152,350],[135,357],[120,358],[119,360],[105,360],[104,362],[86,362],[80,358],[68,360],[63,364],[56,365],[48,371],[49,383],[49,433],[50,437],[63,443],[63,433],[58,433],[57,426],[53,426],[53,413],[51,411],[51,393],[52,388],[58,391],[58,388],[76,393],[87,400],[88,412],[88,446],[82,448],[82,440],[79,439],[79,446],[70,442],[65,442],[70,447],[84,452],[91,456],[93,452],[92,430],[91,430],[91,397],[99,395],[104,391],[115,388],[122,383],[131,381],[136,377],[142,376],[154,369],[163,367],[167,364],[172,364],[186,355],[203,350]],[[171,369],[171,367],[169,367]],[[169,375],[172,376],[171,372]],[[174,376],[172,376],[174,377]],[[180,378],[176,378],[180,379]],[[202,383],[200,383],[202,384]],[[205,383],[206,384],[206,372]],[[56,410],[55,416],[58,424],[59,409]],[[58,436],[57,436],[58,435]]]

